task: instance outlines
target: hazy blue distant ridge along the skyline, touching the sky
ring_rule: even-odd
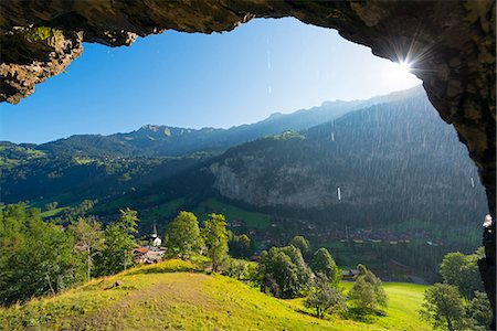
[[[263,136],[284,130],[304,130],[332,120],[349,111],[372,105],[402,99],[420,93],[421,86],[368,100],[326,102],[321,106],[302,109],[293,114],[273,114],[251,125],[230,129],[188,129],[146,125],[128,134],[110,136],[77,135],[38,146],[36,149],[65,156],[123,157],[123,156],[181,156],[205,149],[226,149]]]

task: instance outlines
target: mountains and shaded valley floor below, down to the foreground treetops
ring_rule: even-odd
[[[230,129],[4,141],[0,167],[0,202],[41,207],[52,222],[106,223],[131,207],[147,235],[179,211],[216,212],[257,249],[300,234],[340,265],[394,258],[433,279],[445,253],[478,246],[475,217],[487,212],[476,167],[421,87]]]

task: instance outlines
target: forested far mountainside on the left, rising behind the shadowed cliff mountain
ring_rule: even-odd
[[[357,102],[328,102],[293,114],[273,114],[256,124],[230,129],[189,129],[146,125],[128,134],[75,135],[42,145],[0,142],[0,202],[57,201],[121,195],[173,175],[226,148],[284,130],[300,130],[384,100],[403,98],[420,87]]]

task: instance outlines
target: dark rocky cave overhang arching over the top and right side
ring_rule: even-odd
[[[413,61],[430,100],[467,146],[495,211],[495,14],[493,0],[8,1],[0,18],[0,99],[18,103],[63,72],[81,42],[120,46],[168,29],[212,33],[253,18],[295,17],[337,29],[379,56]],[[56,33],[28,40],[28,26]]]

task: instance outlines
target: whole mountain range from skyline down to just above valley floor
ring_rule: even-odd
[[[147,125],[42,145],[1,142],[0,164],[4,203],[109,203],[125,195],[139,209],[147,195],[187,196],[186,206],[215,195],[339,223],[448,222],[485,210],[467,151],[421,87],[230,129]]]

